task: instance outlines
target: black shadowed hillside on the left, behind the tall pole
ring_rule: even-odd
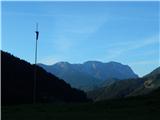
[[[34,65],[1,51],[2,105],[32,103]],[[87,101],[84,92],[37,66],[37,102]]]

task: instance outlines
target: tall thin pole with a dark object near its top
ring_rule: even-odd
[[[34,83],[33,83],[33,103],[36,103],[36,84],[37,84],[37,42],[39,37],[38,23],[36,23],[36,46],[35,46],[35,65],[34,65]]]

